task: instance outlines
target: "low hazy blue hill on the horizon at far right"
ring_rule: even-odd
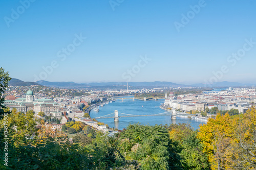
[[[217,82],[217,83],[212,83],[212,84],[193,84],[193,86],[197,87],[244,87],[244,86],[253,86],[253,84],[242,84],[242,83],[237,83],[237,82]]]

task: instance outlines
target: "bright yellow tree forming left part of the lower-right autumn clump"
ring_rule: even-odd
[[[234,130],[238,118],[231,119],[228,114],[218,114],[216,119],[209,118],[207,124],[201,126],[197,137],[203,144],[203,152],[208,155],[211,169],[228,169],[233,166],[233,147],[237,143]]]

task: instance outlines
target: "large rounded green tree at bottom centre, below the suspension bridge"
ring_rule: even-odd
[[[174,143],[161,125],[129,125],[120,133],[118,148],[126,159],[138,160],[142,169],[172,169],[180,166]]]

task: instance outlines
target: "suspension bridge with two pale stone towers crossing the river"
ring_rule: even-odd
[[[172,116],[172,119],[176,119],[176,112],[175,111],[167,111],[163,113],[157,113],[157,114],[126,114],[126,113],[119,113],[118,110],[115,110],[114,113],[110,113],[104,116],[94,117],[95,119],[98,118],[114,118],[115,122],[119,121],[119,117],[141,117],[141,116]]]

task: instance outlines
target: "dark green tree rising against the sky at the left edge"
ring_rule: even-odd
[[[4,92],[8,88],[8,82],[11,80],[9,77],[8,71],[5,72],[4,68],[0,68],[0,119],[3,117],[4,113],[4,108],[5,106],[3,105],[5,102],[4,98]]]

